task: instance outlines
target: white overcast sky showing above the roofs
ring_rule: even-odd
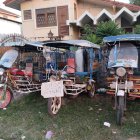
[[[0,7],[4,8],[4,9],[6,9],[6,10],[9,10],[9,11],[11,11],[11,12],[13,12],[13,13],[16,13],[16,14],[19,14],[19,15],[21,14],[21,13],[20,13],[19,11],[17,11],[17,10],[13,10],[13,9],[11,9],[11,8],[6,7],[6,6],[3,4],[4,1],[5,1],[5,0],[0,0]],[[129,3],[129,0],[116,0],[116,1]]]

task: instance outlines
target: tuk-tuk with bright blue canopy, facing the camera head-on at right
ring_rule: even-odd
[[[140,34],[104,38],[108,50],[107,94],[115,97],[117,124],[122,125],[127,99],[140,98]]]

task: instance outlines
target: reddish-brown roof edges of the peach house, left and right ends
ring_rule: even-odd
[[[29,0],[18,0],[18,1],[17,0],[6,0],[4,2],[4,4],[6,6],[11,7],[11,8],[20,10],[20,3],[24,2],[24,1],[29,1]],[[113,1],[113,0],[100,0],[100,1],[107,4],[108,6],[116,6],[116,7],[121,7],[121,8],[126,7],[132,11],[139,11],[140,10],[140,6],[137,6],[134,4],[127,4],[127,3],[117,2],[117,1]]]

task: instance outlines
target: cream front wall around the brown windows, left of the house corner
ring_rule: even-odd
[[[23,2],[21,4],[22,10],[22,21],[23,21],[23,35],[27,38],[32,37],[47,37],[50,30],[53,32],[54,36],[58,36],[58,26],[52,27],[36,27],[36,17],[35,10],[40,8],[49,8],[49,7],[57,7],[68,5],[69,8],[69,18],[73,18],[72,8],[73,8],[73,0],[32,0],[28,2]],[[32,10],[32,19],[24,20],[23,19],[23,10]],[[57,15],[57,13],[56,13]],[[67,39],[68,36],[65,37]]]

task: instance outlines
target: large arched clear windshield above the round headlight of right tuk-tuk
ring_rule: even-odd
[[[138,67],[138,51],[131,43],[114,46],[109,54],[108,67]]]

